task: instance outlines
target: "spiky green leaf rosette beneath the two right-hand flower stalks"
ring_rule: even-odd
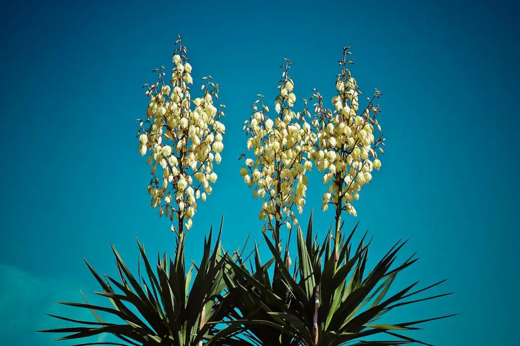
[[[298,258],[292,274],[287,252],[285,259],[282,259],[279,249],[264,234],[277,264],[275,277],[279,277],[287,287],[287,294],[283,290],[280,294],[279,290],[274,289],[275,282],[269,281],[268,268],[271,261],[262,265],[256,255],[254,270],[248,270],[240,259],[228,258],[234,276],[228,276],[225,280],[231,287],[230,293],[240,297],[235,300],[240,301],[242,318],[230,322],[230,329],[220,332],[216,338],[228,335],[231,330],[247,329],[254,334],[250,342],[261,345],[427,344],[399,333],[419,329],[414,326],[420,323],[452,315],[392,324],[377,321],[398,307],[449,295],[408,299],[444,281],[412,290],[417,285],[414,283],[385,298],[397,274],[417,259],[412,256],[392,268],[399,250],[406,243],[398,242],[373,270],[366,273],[370,242],[365,244],[365,234],[357,247],[353,248],[352,237],[356,228],[357,225],[346,239],[340,241],[337,268],[334,269],[331,231],[325,241],[318,244],[311,215],[307,235],[304,236],[300,228],[297,230]],[[256,246],[255,252],[258,254]],[[391,336],[394,340],[363,340],[367,337],[372,340],[374,335]]]

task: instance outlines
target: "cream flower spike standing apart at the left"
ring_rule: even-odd
[[[141,121],[137,136],[139,152],[148,155],[152,166],[148,193],[152,207],[159,208],[159,216],[169,217],[172,231],[182,235],[192,227],[197,210],[197,200],[206,200],[211,194],[211,184],[217,180],[214,162],[220,163],[224,149],[222,135],[224,105],[219,109],[213,104],[218,99],[218,84],[211,76],[204,77],[201,89],[204,95],[192,98],[190,84],[191,65],[186,57],[186,47],[181,36],[175,45],[173,74],[170,83],[165,81],[164,66],[159,71],[157,83],[145,84],[150,101],[146,120]]]

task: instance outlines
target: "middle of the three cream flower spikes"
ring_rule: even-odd
[[[296,102],[294,83],[289,76],[292,64],[288,59],[282,79],[279,82],[279,94],[275,99],[276,117],[267,114],[269,108],[264,104],[264,96],[253,105],[250,120],[244,122],[248,150],[254,158],[245,158],[245,165],[240,174],[244,182],[253,188],[253,196],[261,198],[263,204],[259,219],[265,221],[264,230],[271,230],[275,242],[280,244],[280,227],[291,229],[298,221],[293,207],[302,212],[305,205],[307,177],[305,173],[312,169],[310,150],[314,148],[316,135],[305,117],[310,120],[305,102],[302,112],[293,110]],[[258,107],[258,104],[260,107]],[[241,157],[244,155],[241,155]]]

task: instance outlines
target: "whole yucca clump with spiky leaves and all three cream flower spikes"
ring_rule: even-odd
[[[67,334],[59,340],[101,334],[121,340],[77,345],[426,344],[401,335],[400,331],[418,329],[414,326],[448,316],[392,324],[377,321],[395,308],[446,296],[409,299],[442,282],[418,290],[413,290],[417,285],[414,283],[386,297],[397,274],[417,261],[412,256],[396,265],[397,254],[406,242],[396,243],[366,273],[370,245],[370,242],[365,244],[366,234],[353,247],[357,225],[346,237],[342,231],[342,212],[357,215],[352,203],[359,198],[362,186],[372,180],[373,169],[381,167],[376,150],[382,154],[385,141],[382,136],[375,139],[375,129],[381,132],[381,126],[376,119],[379,105],[373,101],[382,94],[375,89],[365,110],[359,109],[362,94],[346,68],[353,63],[347,60],[348,47],[343,48],[343,59],[339,61],[343,68],[336,76],[334,110],[326,109],[323,97],[313,89],[310,100],[316,100],[314,116],[305,99],[303,110],[294,111],[296,96],[289,75],[292,62],[284,59],[274,105],[276,115],[268,116],[264,96],[258,94],[251,117],[244,122],[243,129],[250,136],[246,142],[248,156],[253,154],[254,158],[245,157],[245,153],[240,156],[239,159],[245,157],[240,174],[248,187],[254,188],[253,196],[263,201],[258,217],[264,222],[263,236],[272,258],[262,263],[257,244],[252,260],[251,255],[242,256],[243,250],[228,255],[219,243],[221,223],[214,247],[210,230],[204,239],[200,265],[186,270],[186,232],[193,225],[197,200],[205,201],[213,190],[211,184],[217,180],[214,163],[219,164],[222,159],[225,126],[220,118],[224,116],[225,106],[217,109],[213,104],[218,100],[219,85],[212,82],[211,76],[203,78],[204,95],[192,95],[189,86],[193,83],[192,66],[181,36],[175,44],[178,48],[172,58],[170,83],[165,81],[166,70],[161,66],[154,70],[159,72],[157,82],[144,85],[148,107],[146,119],[137,119],[136,135],[139,152],[148,155],[147,163],[151,165],[152,178],[147,188],[151,206],[159,208],[159,217],[172,221],[171,229],[177,235],[174,260],[166,254],[159,256],[156,268],[152,268],[138,242],[139,270],[135,277],[112,246],[118,280],[108,275],[102,278],[85,262],[102,288],[95,293],[107,297],[113,307],[90,304],[85,296],[85,303],[62,302],[90,310],[96,321],[53,315],[77,326],[42,332]],[[334,231],[329,230],[322,243],[318,243],[313,231],[312,214],[304,235],[294,212],[303,212],[306,172],[313,166],[323,172],[322,182],[328,184],[322,210],[329,205],[335,209]],[[289,232],[284,250],[282,226]],[[292,269],[291,230],[296,230],[297,238],[297,257]],[[272,232],[272,241],[267,232]],[[141,258],[144,275],[140,270]],[[99,312],[110,315],[110,322],[103,320]],[[113,319],[122,322],[113,323]],[[394,340],[365,340],[381,335]]]

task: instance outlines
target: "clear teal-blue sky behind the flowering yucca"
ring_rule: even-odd
[[[422,258],[398,285],[448,278],[438,292],[456,292],[395,316],[460,313],[411,335],[436,345],[517,344],[517,13],[514,2],[467,0],[4,3],[0,344],[55,344],[33,332],[60,325],[44,312],[77,316],[54,301],[99,289],[82,256],[114,273],[110,244],[134,267],[136,236],[150,254],[173,249],[169,223],[150,208],[135,119],[147,105],[141,85],[171,68],[177,34],[193,90],[211,74],[228,106],[219,179],[193,220],[188,258],[199,259],[222,212],[226,247],[250,231],[261,238],[260,202],[237,157],[255,95],[272,107],[281,59],[294,62],[298,99],[316,87],[330,100],[342,46],[352,46],[361,90],[383,92],[387,150],[347,225],[370,229],[372,260],[410,238],[404,254]],[[324,187],[311,177],[301,221],[315,207],[323,236],[332,212],[321,212]]]

